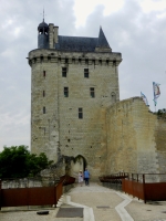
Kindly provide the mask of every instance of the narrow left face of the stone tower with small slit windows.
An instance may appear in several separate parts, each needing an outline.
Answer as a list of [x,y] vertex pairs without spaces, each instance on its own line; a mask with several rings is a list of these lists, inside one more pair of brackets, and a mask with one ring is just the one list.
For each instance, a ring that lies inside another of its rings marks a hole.
[[52,70],[56,72],[56,66],[44,62],[44,57],[33,61],[31,76],[31,151],[38,155],[45,152],[50,159],[56,161],[59,148],[58,76]]

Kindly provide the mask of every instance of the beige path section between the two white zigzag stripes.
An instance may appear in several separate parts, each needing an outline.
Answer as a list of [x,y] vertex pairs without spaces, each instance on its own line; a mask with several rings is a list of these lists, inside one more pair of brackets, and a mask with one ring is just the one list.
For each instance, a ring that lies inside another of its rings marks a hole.
[[[95,221],[122,220],[120,214],[121,212],[118,209],[116,210],[116,207],[120,206],[124,199],[114,190],[98,186],[97,183],[91,183],[90,186],[84,187],[77,186],[73,188],[69,194],[71,196],[72,202],[92,208]],[[128,213],[125,211],[123,217],[125,214]],[[127,221],[132,221],[129,220],[129,214],[127,218]]]

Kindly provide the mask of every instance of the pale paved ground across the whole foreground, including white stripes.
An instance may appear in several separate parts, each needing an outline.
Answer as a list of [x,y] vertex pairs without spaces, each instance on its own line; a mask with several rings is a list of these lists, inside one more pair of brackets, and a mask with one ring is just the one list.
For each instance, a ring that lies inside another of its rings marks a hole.
[[166,221],[166,201],[145,204],[97,183],[75,185],[64,194],[61,207],[82,207],[84,218],[56,218],[59,208],[52,208],[44,217],[38,215],[37,211],[4,212],[2,209],[0,221]]

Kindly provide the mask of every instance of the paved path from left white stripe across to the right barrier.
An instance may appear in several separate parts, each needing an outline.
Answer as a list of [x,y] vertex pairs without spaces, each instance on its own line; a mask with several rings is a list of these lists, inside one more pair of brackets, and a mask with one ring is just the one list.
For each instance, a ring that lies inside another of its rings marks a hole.
[[147,202],[90,183],[71,189],[71,201],[93,209],[95,221],[166,221],[166,201]]

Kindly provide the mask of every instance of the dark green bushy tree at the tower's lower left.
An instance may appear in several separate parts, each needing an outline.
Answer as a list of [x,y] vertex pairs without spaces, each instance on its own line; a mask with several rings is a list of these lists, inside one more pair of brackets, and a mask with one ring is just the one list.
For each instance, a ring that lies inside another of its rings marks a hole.
[[27,146],[4,147],[0,152],[0,178],[33,177],[52,162],[44,152],[30,154]]

